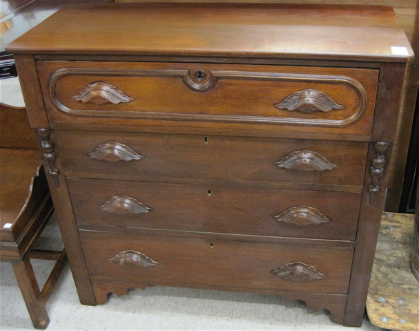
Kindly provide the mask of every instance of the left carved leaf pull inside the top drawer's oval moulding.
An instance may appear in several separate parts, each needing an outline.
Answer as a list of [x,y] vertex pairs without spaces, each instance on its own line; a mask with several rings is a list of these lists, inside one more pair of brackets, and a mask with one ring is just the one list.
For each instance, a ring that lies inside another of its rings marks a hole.
[[119,104],[119,102],[130,102],[134,100],[116,86],[102,81],[87,84],[84,86],[83,90],[81,90],[78,95],[73,96],[72,99],[84,103],[91,102],[92,104],[97,105],[108,103]]

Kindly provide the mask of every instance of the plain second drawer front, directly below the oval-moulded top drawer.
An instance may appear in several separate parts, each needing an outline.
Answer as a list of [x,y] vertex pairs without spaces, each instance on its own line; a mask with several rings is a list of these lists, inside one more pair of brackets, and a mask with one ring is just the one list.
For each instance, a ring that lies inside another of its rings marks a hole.
[[[58,130],[66,171],[362,187],[367,143]],[[332,187],[331,189],[337,189]]]

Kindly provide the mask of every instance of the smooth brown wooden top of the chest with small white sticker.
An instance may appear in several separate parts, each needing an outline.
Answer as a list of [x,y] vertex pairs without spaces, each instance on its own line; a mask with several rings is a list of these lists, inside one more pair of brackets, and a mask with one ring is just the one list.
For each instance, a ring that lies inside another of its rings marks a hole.
[[382,62],[413,57],[391,8],[227,3],[64,8],[8,51]]

